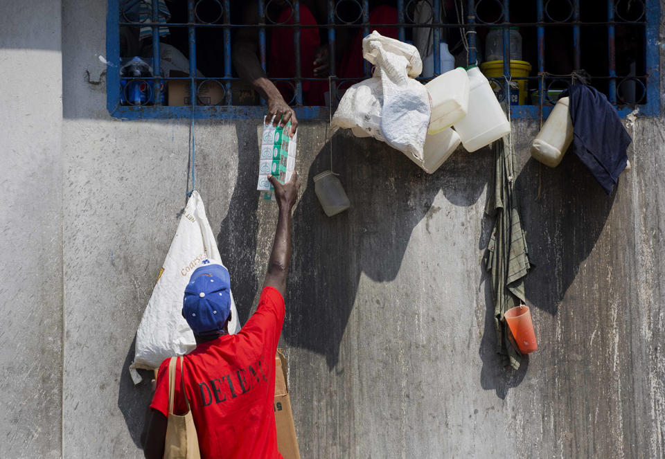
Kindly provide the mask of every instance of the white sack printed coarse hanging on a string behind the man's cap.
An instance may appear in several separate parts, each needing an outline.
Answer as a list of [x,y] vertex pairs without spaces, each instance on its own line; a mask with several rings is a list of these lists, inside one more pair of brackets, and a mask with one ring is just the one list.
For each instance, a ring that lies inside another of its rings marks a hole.
[[[159,368],[164,359],[186,354],[196,347],[194,334],[181,314],[182,300],[191,274],[206,259],[222,262],[203,200],[194,191],[180,217],[175,237],[136,332],[136,355],[130,366],[134,384],[141,382],[136,368]],[[237,333],[238,330],[240,323],[231,293],[229,333]]]

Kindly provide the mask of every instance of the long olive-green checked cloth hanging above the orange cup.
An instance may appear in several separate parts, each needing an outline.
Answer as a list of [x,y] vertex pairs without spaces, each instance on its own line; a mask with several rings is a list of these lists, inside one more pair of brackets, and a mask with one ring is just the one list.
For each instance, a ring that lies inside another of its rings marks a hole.
[[495,215],[492,237],[485,253],[486,269],[492,279],[494,321],[497,330],[497,352],[504,366],[520,368],[522,354],[504,321],[511,307],[526,302],[524,278],[531,267],[526,249],[526,237],[520,221],[517,195],[513,189],[515,172],[508,136],[495,142],[495,196],[488,200],[486,213]]

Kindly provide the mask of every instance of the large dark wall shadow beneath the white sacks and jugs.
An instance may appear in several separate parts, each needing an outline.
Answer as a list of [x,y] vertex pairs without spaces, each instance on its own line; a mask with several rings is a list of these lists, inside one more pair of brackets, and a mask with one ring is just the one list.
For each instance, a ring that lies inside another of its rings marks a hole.
[[[414,227],[440,190],[470,206],[481,195],[482,174],[462,172],[455,160],[429,175],[403,154],[369,138],[332,138],[333,170],[340,173],[351,208],[327,217],[314,193],[314,177],[330,168],[330,144],[312,162],[294,214],[290,310],[283,336],[290,345],[326,356],[328,368],[355,303],[361,273],[374,282],[394,280]],[[475,172],[475,171],[474,171]]]

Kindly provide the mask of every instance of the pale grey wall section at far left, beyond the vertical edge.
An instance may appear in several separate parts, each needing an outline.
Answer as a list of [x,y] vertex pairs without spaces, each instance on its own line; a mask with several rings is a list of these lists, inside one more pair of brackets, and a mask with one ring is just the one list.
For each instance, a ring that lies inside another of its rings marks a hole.
[[1,458],[59,458],[60,1],[0,1]]

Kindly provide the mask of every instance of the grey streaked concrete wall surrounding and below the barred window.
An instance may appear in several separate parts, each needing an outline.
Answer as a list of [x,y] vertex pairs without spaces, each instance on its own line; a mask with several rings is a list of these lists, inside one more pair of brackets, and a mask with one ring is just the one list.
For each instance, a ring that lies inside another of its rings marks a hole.
[[[45,70],[62,81],[62,120],[49,118],[55,91],[41,93],[43,108],[11,96],[0,105],[13,155],[0,160],[11,198],[0,292],[12,307],[0,332],[11,350],[2,457],[141,457],[150,388],[134,387],[127,366],[185,204],[189,123],[109,118],[97,57],[105,14],[103,1],[62,2],[62,80],[59,63]],[[12,46],[0,62],[33,55],[26,73],[44,71],[45,48]],[[517,372],[495,357],[481,264],[492,152],[459,150],[430,176],[375,141],[337,134],[352,208],[329,219],[311,179],[329,165],[326,127],[302,123],[282,345],[303,458],[665,456],[665,122],[629,126],[633,168],[611,197],[573,155],[553,170],[530,159],[537,123],[513,127],[540,345]],[[195,129],[197,189],[244,322],[276,217],[254,190],[258,123]],[[53,285],[28,280],[45,274]]]

